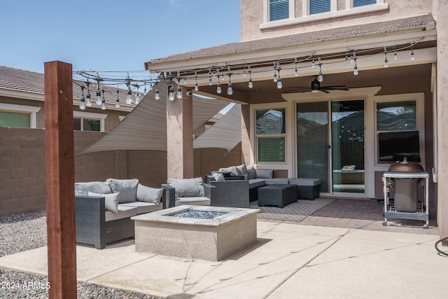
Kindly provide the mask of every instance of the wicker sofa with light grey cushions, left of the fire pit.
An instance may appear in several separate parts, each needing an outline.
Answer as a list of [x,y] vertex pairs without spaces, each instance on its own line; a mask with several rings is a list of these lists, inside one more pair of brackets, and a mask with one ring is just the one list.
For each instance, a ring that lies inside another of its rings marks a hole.
[[132,216],[162,209],[162,188],[138,179],[75,183],[76,242],[104,249],[106,244],[134,237]]

